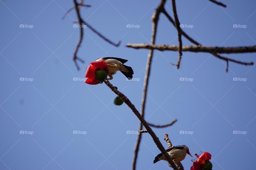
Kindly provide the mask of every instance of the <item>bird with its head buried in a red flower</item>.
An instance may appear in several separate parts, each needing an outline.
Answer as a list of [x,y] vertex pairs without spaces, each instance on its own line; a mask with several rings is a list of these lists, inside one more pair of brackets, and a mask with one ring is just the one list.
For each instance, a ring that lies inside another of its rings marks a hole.
[[107,63],[108,69],[109,69],[109,79],[112,80],[115,73],[117,71],[121,71],[127,77],[127,79],[132,79],[133,78],[133,69],[129,66],[123,65],[126,63],[128,60],[122,59],[122,58],[116,58],[116,57],[102,57],[98,58],[96,61],[101,61],[104,60]]

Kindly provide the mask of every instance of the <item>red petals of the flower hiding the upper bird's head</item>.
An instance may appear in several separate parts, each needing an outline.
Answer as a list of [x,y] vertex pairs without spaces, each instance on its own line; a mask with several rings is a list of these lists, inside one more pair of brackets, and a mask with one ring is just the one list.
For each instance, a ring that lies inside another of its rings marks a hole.
[[87,84],[92,84],[92,85],[96,85],[99,84],[100,82],[98,82],[95,78],[95,70],[97,69],[103,69],[105,70],[107,73],[109,73],[109,69],[107,68],[107,63],[104,60],[101,61],[93,61],[90,63],[90,65],[87,67],[87,70],[85,72],[85,77],[87,77],[87,79],[85,80],[85,83]]

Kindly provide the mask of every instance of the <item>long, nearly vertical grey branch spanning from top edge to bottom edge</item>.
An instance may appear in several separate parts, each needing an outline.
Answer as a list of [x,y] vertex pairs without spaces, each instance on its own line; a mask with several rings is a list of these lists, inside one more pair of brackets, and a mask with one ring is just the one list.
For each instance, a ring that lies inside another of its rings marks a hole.
[[[157,23],[159,19],[159,15],[163,9],[163,6],[165,5],[166,0],[161,0],[158,7],[155,9],[155,12],[152,15],[151,21],[152,21],[152,33],[151,33],[151,40],[150,44],[155,44],[155,36],[157,32]],[[147,96],[147,87],[149,82],[149,74],[150,74],[150,66],[152,62],[153,57],[153,49],[149,50],[148,56],[147,56],[147,65],[146,65],[146,72],[144,77],[144,84],[143,84],[143,94],[141,99],[141,116],[144,118],[144,112],[145,112],[145,105],[146,105],[146,96]],[[142,122],[139,123],[139,131],[142,130]],[[142,134],[138,134],[137,141],[134,146],[134,155],[133,155],[133,162],[132,162],[132,170],[136,169],[136,163],[138,158],[138,152],[139,152],[139,145],[141,142]]]

